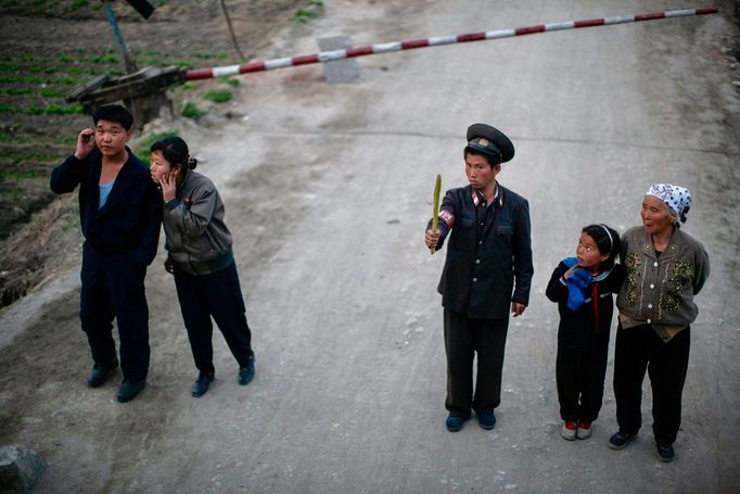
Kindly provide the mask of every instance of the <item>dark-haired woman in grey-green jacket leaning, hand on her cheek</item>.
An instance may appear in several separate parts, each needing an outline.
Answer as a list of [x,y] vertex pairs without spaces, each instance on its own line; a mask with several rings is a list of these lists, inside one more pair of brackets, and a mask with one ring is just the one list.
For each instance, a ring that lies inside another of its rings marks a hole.
[[152,144],[152,180],[162,188],[165,269],[175,275],[177,297],[200,371],[191,394],[202,396],[214,380],[213,316],[239,363],[239,383],[254,377],[252,333],[231,251],[231,232],[224,223],[224,202],[214,183],[192,172],[197,164],[188,144],[168,137]]

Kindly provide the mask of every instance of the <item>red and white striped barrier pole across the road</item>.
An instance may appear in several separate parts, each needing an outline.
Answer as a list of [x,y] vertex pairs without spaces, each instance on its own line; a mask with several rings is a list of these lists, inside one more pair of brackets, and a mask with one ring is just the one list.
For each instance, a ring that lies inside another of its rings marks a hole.
[[309,55],[286,56],[266,61],[254,61],[242,65],[227,65],[222,67],[196,68],[186,71],[188,80],[209,79],[213,77],[248,74],[251,72],[271,71],[273,68],[293,67],[311,63],[326,63],[335,60],[353,59],[356,56],[377,55],[393,51],[411,50],[414,48],[438,47],[470,41],[485,41],[487,39],[510,38],[512,36],[534,35],[552,30],[577,29],[579,27],[609,26],[612,24],[637,23],[641,21],[656,21],[660,18],[686,17],[689,15],[716,14],[716,8],[672,10],[651,14],[618,15],[614,17],[590,18],[586,21],[571,21],[564,23],[539,24],[513,29],[488,30],[469,33],[465,35],[438,36],[434,38],[406,39],[404,41],[354,47],[346,50],[322,51]]

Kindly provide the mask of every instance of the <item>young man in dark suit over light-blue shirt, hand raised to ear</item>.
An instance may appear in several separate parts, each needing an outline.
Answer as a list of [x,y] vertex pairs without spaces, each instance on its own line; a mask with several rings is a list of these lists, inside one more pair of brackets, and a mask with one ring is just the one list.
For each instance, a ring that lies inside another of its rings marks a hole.
[[51,174],[51,190],[79,186],[82,289],[79,316],[94,365],[88,384],[102,385],[118,366],[112,329],[116,319],[124,381],[116,398],[133,400],[146,383],[149,307],[146,266],[156,254],[162,223],[160,194],[146,166],[126,143],[131,114],[117,104],[92,114],[94,128],[77,137],[75,153]]

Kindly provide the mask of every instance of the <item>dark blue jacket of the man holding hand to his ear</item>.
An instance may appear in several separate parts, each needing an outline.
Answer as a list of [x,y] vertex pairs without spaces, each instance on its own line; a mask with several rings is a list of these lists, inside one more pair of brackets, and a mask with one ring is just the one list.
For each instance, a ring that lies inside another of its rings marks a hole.
[[151,264],[162,224],[162,194],[149,168],[129,150],[105,204],[98,210],[102,155],[94,149],[84,160],[71,155],[51,173],[51,190],[73,192],[79,185],[79,219],[86,243],[100,255],[124,255]]

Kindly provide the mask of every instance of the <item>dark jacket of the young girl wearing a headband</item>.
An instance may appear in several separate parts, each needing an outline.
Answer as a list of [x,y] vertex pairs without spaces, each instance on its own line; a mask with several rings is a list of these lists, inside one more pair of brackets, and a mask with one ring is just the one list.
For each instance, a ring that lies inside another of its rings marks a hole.
[[[567,269],[567,265],[561,262],[552,271],[550,282],[545,291],[548,299],[558,303],[558,312],[560,313],[558,345],[583,352],[591,350],[605,352],[609,346],[609,333],[614,313],[612,293],[616,293],[622,286],[624,268],[617,264],[613,268],[592,277],[585,290],[586,300],[584,304],[575,311],[571,311],[566,306],[567,284],[563,275]],[[598,296],[596,302],[594,301],[594,287],[596,287]]]

